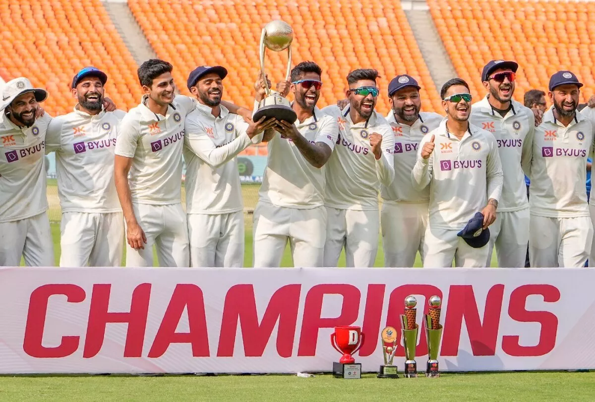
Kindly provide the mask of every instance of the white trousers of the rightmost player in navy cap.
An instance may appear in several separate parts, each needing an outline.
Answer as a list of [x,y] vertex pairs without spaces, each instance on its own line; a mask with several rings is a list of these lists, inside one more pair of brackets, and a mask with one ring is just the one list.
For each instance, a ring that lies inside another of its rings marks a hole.
[[588,216],[531,215],[529,261],[532,268],[584,267],[592,242],[593,224]]

